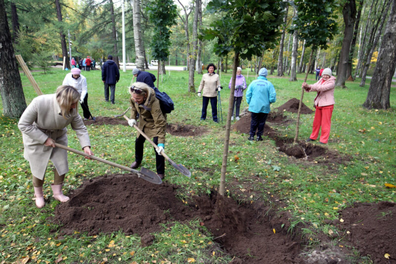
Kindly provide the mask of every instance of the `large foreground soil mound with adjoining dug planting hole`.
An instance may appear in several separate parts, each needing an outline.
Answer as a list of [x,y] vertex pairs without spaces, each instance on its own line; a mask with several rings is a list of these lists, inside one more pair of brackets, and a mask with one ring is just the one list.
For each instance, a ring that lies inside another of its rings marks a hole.
[[[61,224],[64,234],[76,230],[94,235],[120,229],[126,234],[137,233],[146,246],[153,240],[149,234],[162,229],[159,223],[199,217],[201,225],[218,237],[215,241],[237,257],[235,261],[303,263],[301,241],[281,232],[282,219],[270,221],[266,210],[255,209],[254,203],[238,206],[214,193],[193,197],[185,205],[175,197],[177,188],[167,183],[154,185],[134,174],[104,175],[84,181],[69,193],[70,200],[56,207],[53,221]],[[278,228],[275,234],[273,228]]]

